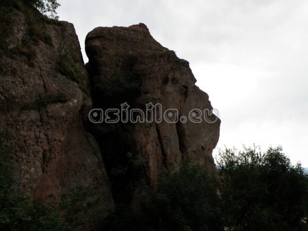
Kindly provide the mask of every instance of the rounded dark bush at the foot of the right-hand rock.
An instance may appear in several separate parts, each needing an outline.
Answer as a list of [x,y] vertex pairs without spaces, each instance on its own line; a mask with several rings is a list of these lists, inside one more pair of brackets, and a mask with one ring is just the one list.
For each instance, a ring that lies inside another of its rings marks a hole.
[[145,210],[152,230],[223,230],[218,194],[205,168],[184,159],[179,168],[161,172],[146,194]]

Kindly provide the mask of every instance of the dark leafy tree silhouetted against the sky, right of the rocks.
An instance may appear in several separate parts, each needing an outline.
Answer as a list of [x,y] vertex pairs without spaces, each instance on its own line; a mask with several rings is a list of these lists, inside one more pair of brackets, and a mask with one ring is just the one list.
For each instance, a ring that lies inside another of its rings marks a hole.
[[227,230],[308,230],[308,176],[282,147],[219,151],[217,187]]

